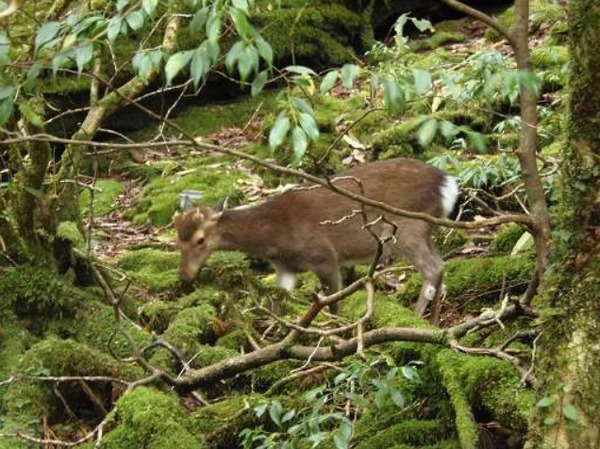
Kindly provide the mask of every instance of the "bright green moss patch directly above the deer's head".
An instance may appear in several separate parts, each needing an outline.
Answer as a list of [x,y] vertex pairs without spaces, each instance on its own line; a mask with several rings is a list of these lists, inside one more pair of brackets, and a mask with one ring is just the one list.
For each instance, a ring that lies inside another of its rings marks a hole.
[[232,194],[232,199],[236,200],[234,189],[240,179],[245,179],[245,175],[230,165],[204,167],[196,162],[196,165],[182,170],[180,174],[151,180],[137,203],[136,213],[147,213],[154,225],[166,226],[171,223],[179,207],[179,193],[182,190],[202,191],[205,204],[214,204]]

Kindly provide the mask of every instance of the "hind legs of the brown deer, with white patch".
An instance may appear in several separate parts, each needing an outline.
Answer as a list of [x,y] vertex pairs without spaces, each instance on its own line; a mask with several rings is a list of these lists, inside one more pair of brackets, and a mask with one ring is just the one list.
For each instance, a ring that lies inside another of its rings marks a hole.
[[[400,235],[398,250],[410,264],[421,273],[423,285],[414,309],[423,316],[429,303],[432,304],[431,322],[436,323],[439,318],[439,297],[441,294],[444,263],[433,243],[431,242],[431,228],[428,226],[411,229],[412,232]],[[417,231],[417,232],[415,232]]]

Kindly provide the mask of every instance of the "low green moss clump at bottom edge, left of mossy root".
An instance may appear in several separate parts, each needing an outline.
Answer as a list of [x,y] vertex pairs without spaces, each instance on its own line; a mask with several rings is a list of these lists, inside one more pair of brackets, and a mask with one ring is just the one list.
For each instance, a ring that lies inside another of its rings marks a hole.
[[[373,429],[369,429],[369,433]],[[404,422],[393,424],[385,429],[377,429],[373,432],[375,435],[368,438],[361,438],[360,432],[364,430],[357,426],[356,434],[358,444],[356,449],[370,449],[375,447],[392,448],[397,445],[406,444],[419,447],[435,444],[446,435],[444,426],[439,421],[421,421],[410,419]]]

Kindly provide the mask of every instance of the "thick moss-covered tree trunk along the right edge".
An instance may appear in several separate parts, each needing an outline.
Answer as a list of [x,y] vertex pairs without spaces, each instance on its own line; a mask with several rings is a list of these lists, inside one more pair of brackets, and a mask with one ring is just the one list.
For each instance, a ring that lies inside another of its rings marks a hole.
[[527,447],[600,447],[600,2],[571,0],[568,144]]

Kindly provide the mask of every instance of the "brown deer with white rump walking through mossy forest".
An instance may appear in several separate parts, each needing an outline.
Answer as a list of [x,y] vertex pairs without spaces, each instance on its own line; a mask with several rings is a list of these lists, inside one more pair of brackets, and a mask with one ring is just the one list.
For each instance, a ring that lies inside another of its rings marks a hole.
[[[337,187],[433,217],[447,217],[458,196],[454,178],[411,159],[363,164],[332,180]],[[294,288],[295,273],[312,271],[325,292],[333,293],[341,288],[341,265],[370,262],[377,252],[377,241],[365,229],[360,210],[357,201],[309,183],[256,206],[191,207],[174,218],[181,278],[192,281],[215,250],[239,250],[268,260],[278,284],[287,290]],[[415,311],[423,315],[439,295],[444,270],[431,241],[434,226],[370,206],[364,211],[367,222],[385,218],[371,226],[380,238],[395,231],[386,251],[404,256],[421,272],[423,286]]]

